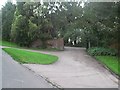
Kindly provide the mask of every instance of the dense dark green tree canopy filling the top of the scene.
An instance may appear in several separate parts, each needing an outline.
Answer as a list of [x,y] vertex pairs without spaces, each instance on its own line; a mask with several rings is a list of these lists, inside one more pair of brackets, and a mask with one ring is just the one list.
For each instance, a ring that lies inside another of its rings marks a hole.
[[3,39],[28,47],[37,39],[60,37],[65,45],[86,48],[117,42],[119,2],[81,3],[7,2],[2,8]]

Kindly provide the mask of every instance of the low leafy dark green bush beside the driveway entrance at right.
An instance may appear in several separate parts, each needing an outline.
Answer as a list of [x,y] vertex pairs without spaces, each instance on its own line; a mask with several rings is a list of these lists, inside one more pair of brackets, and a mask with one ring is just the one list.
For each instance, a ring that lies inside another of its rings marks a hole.
[[94,47],[94,48],[90,48],[88,49],[88,53],[90,55],[93,56],[116,56],[117,55],[117,51],[114,49],[110,49],[110,48],[103,48],[103,47]]

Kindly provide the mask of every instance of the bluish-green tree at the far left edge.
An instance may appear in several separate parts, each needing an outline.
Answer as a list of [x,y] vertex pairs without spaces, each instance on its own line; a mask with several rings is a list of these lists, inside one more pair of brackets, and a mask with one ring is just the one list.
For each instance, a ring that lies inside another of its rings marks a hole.
[[10,41],[11,25],[15,12],[15,5],[7,2],[2,8],[2,39]]

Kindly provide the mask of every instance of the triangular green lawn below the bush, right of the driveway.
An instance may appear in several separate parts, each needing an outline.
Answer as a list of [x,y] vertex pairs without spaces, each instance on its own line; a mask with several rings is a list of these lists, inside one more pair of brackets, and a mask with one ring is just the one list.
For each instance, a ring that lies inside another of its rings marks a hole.
[[[120,75],[120,62],[115,56],[95,56],[97,60],[105,64],[109,69],[111,69],[117,75]],[[119,65],[118,65],[119,64]]]

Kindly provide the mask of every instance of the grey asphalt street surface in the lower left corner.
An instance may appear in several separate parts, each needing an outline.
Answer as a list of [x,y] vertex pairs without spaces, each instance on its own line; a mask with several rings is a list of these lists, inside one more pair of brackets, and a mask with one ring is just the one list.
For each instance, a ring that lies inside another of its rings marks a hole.
[[4,51],[0,58],[2,58],[2,80],[0,80],[2,88],[53,88],[45,79],[14,61]]

